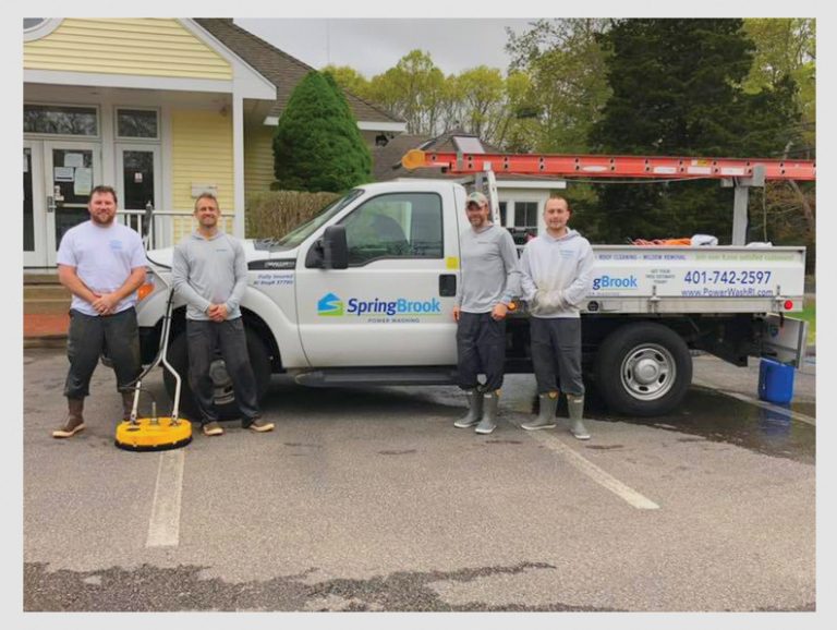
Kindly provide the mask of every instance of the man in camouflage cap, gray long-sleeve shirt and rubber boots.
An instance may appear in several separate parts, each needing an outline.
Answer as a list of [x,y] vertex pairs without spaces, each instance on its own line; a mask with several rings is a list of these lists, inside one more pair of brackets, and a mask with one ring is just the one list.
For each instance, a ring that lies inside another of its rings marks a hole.
[[[469,412],[453,426],[476,424],[476,433],[489,434],[496,427],[506,363],[506,314],[518,293],[518,253],[511,234],[489,221],[484,194],[471,193],[465,208],[471,227],[459,239],[462,288],[453,317],[459,386],[468,397]],[[485,374],[482,386],[481,373]]]

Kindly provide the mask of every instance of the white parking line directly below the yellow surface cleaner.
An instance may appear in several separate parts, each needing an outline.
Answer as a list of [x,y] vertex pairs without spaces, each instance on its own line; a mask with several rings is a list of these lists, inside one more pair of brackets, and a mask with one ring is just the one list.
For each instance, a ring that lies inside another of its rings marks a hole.
[[180,541],[180,497],[183,489],[184,461],[185,450],[182,448],[160,453],[146,547],[175,547]]

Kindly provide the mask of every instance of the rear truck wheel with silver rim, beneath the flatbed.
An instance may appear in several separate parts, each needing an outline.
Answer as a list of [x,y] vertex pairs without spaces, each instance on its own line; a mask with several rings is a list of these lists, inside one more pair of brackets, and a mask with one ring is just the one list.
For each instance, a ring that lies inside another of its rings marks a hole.
[[607,405],[627,415],[663,415],[692,383],[692,358],[680,336],[662,324],[623,326],[602,343],[596,384]]

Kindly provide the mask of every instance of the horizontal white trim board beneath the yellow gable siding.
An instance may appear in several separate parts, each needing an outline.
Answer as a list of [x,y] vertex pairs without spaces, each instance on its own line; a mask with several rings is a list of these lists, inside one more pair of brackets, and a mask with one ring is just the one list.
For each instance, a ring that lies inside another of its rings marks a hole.
[[92,87],[129,87],[131,89],[171,89],[177,92],[215,92],[225,94],[230,94],[233,90],[233,82],[230,80],[99,74],[59,70],[24,70],[23,82],[46,83],[50,85],[88,85]]

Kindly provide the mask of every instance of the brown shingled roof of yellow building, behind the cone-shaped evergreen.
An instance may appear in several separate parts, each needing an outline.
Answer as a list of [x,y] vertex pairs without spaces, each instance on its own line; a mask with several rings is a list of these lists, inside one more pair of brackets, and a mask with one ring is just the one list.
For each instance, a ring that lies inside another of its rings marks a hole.
[[[198,17],[195,22],[276,85],[276,104],[270,109],[269,116],[281,116],[293,88],[308,72],[315,70],[233,24],[232,19]],[[357,121],[404,122],[349,92],[343,90],[343,94]]]

